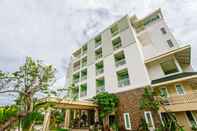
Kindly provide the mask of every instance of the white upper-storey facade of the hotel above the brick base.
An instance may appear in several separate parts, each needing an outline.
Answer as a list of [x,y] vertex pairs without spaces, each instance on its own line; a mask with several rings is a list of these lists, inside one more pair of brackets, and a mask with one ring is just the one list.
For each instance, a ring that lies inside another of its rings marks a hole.
[[[150,85],[151,80],[166,76],[160,63],[168,59],[175,61],[179,72],[192,70],[190,65],[181,65],[173,54],[146,63],[149,59],[180,48],[160,10],[141,20],[125,16],[95,38],[73,53],[68,68],[68,82],[79,86],[80,99],[92,98],[99,87],[116,93]],[[85,59],[87,61],[84,63],[87,64],[82,67]],[[85,94],[82,93],[84,90]]]

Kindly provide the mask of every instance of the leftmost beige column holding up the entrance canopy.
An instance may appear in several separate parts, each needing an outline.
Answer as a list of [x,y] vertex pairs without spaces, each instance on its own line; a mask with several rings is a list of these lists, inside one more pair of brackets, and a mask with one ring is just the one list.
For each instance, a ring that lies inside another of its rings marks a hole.
[[49,131],[50,117],[51,117],[51,108],[48,108],[44,115],[42,131]]

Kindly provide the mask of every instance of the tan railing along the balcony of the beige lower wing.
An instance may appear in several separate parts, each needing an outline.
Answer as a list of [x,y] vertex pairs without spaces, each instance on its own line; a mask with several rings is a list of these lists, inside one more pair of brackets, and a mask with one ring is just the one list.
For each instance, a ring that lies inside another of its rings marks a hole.
[[196,103],[197,102],[197,93],[189,93],[181,96],[172,96],[165,98],[166,102],[164,105],[175,105],[175,104],[184,104],[184,103]]

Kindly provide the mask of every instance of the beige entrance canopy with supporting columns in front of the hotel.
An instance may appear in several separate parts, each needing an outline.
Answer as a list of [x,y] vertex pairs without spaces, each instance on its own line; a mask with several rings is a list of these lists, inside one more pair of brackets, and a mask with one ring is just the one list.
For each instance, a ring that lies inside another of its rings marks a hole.
[[41,99],[37,103],[37,105],[41,105],[41,106],[48,105],[48,104],[50,104],[50,107],[46,106],[47,110],[45,112],[42,131],[49,130],[52,108],[66,109],[65,119],[64,119],[64,128],[70,127],[69,124],[70,124],[70,111],[71,110],[94,111],[94,122],[98,122],[98,109],[97,109],[98,106],[91,101],[74,101],[74,100],[64,100],[64,99],[54,98],[54,97],[47,97],[47,98]]

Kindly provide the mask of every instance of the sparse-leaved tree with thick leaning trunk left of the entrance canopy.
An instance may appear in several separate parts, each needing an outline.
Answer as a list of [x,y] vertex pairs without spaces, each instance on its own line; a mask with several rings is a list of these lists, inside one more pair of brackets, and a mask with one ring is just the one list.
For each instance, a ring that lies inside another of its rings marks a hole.
[[10,117],[0,126],[5,130],[19,118],[25,118],[33,112],[34,103],[38,99],[37,93],[49,93],[48,87],[55,82],[55,68],[27,57],[24,65],[16,72],[7,73],[0,71],[0,93],[17,94],[20,111],[16,116]]

